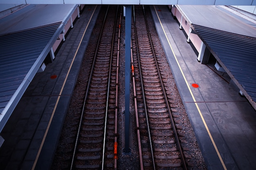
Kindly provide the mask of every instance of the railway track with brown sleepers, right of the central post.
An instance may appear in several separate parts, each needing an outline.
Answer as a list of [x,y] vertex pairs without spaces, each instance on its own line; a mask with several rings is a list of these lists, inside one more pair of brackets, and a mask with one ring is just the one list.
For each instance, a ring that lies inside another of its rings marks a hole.
[[174,119],[172,98],[166,94],[154,42],[150,37],[150,12],[134,6],[132,75],[137,115],[141,169],[183,169],[191,156],[184,154],[181,126]]

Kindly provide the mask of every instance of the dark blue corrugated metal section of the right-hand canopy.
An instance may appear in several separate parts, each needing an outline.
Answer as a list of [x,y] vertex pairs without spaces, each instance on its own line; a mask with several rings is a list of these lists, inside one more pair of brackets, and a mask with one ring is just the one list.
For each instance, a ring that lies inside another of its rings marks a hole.
[[256,38],[196,24],[192,25],[247,94],[256,102]]

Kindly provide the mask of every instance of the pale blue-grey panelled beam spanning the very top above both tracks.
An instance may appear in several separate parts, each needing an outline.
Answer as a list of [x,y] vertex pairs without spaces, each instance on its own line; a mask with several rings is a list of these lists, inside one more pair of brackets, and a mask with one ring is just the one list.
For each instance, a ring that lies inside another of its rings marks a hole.
[[256,5],[256,0],[1,0],[1,4]]

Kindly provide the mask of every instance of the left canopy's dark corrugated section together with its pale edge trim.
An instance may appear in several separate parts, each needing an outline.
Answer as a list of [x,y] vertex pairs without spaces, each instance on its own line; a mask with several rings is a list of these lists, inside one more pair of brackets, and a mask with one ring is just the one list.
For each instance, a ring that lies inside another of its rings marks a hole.
[[60,22],[0,35],[0,132],[78,7],[71,6]]

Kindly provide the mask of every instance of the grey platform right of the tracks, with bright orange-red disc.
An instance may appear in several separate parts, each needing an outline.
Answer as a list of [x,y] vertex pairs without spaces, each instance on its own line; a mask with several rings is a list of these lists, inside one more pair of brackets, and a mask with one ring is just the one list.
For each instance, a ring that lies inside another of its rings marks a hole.
[[151,6],[157,33],[209,170],[253,170],[256,112],[214,64],[197,60],[166,6]]

